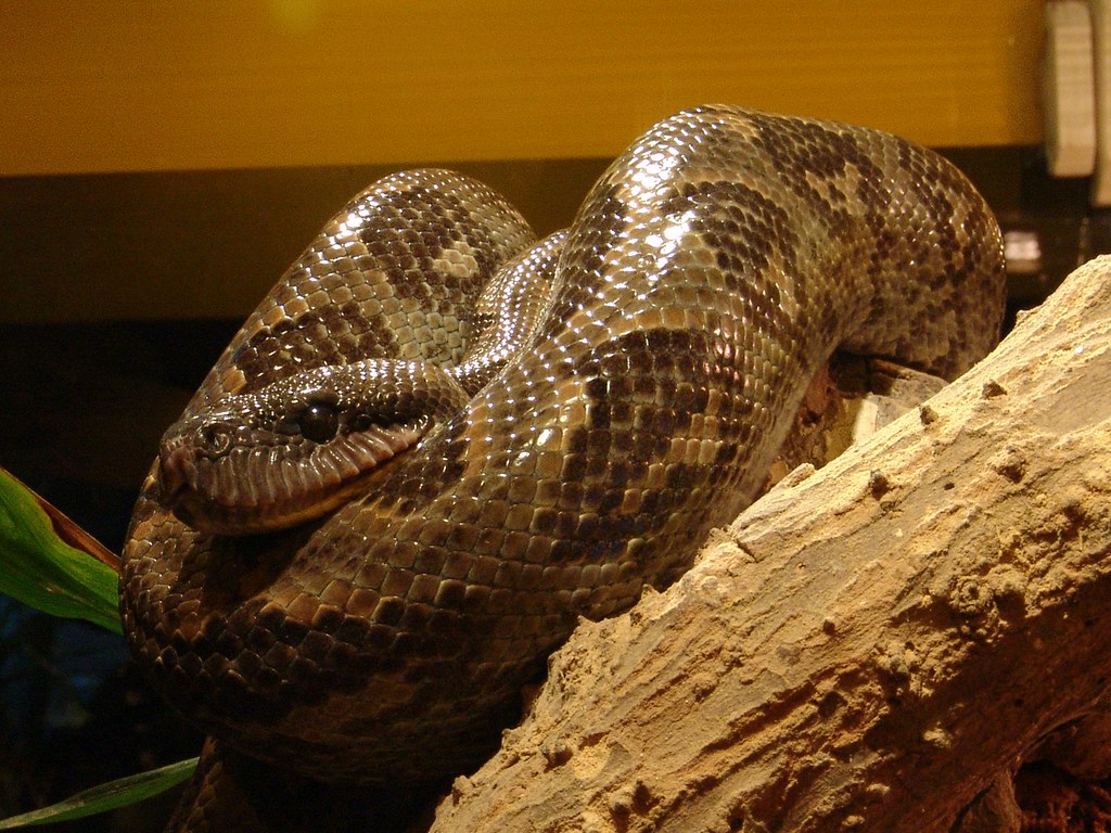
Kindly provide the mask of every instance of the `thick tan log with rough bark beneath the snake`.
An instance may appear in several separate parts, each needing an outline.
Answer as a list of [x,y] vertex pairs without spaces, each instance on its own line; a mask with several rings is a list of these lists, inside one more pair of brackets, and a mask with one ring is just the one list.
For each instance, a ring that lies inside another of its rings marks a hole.
[[1023,761],[1111,774],[1109,492],[1104,258],[583,622],[432,830],[1018,830]]

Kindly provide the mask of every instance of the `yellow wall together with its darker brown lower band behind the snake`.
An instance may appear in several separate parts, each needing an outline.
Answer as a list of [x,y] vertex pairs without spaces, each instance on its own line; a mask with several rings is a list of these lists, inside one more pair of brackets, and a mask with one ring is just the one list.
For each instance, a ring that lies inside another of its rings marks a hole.
[[0,0],[0,323],[242,317],[352,193],[418,163],[549,231],[699,102],[1033,143],[1041,9]]

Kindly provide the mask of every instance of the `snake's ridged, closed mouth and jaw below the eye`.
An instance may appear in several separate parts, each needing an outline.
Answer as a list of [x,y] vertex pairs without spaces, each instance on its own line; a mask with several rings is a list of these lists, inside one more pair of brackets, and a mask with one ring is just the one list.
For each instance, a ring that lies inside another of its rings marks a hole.
[[212,535],[250,535],[320,518],[367,488],[423,431],[372,426],[291,454],[280,445],[233,445],[211,453],[197,435],[163,440],[161,503],[183,523]]

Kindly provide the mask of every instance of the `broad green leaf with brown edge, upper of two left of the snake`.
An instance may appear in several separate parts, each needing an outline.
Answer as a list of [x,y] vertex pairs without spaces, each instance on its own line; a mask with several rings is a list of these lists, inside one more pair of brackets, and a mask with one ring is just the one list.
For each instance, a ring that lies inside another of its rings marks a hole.
[[0,593],[122,633],[118,576],[62,541],[33,492],[0,469]]

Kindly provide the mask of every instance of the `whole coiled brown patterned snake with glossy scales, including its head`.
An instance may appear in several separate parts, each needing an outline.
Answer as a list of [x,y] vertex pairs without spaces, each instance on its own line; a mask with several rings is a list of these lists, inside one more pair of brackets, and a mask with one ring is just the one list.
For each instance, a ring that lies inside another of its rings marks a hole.
[[834,350],[952,379],[1003,297],[983,198],[868,128],[685,110],[540,240],[469,177],[387,177],[167,431],[122,558],[132,652],[297,777],[469,772],[581,619],[753,500]]

